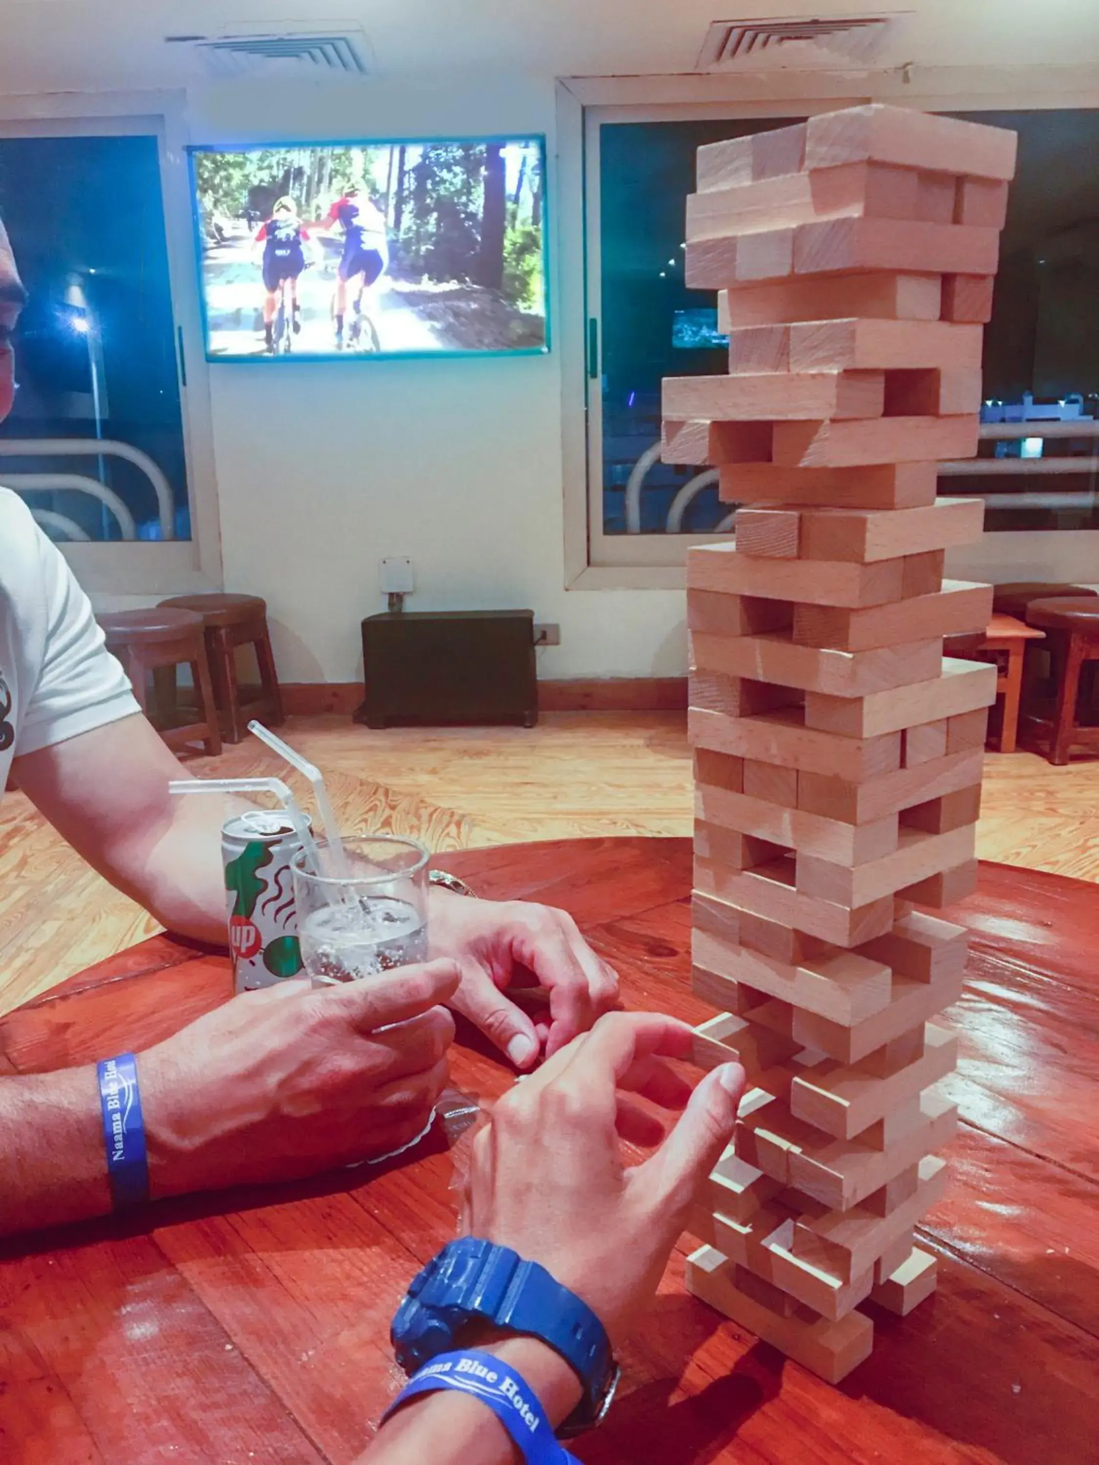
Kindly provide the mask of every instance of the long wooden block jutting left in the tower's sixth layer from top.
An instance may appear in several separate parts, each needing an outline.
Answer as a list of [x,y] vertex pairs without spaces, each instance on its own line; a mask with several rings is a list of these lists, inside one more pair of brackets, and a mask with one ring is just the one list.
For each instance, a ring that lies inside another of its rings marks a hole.
[[[872,321],[891,325],[891,321]],[[900,322],[906,325],[909,322]],[[944,331],[977,331],[979,325],[938,325]],[[753,331],[756,327],[752,328]],[[768,330],[768,327],[763,327]],[[800,327],[782,327],[800,330]],[[752,372],[725,377],[665,377],[664,412],[670,418],[709,418],[711,422],[813,420],[816,418],[879,418],[885,407],[885,374],[879,371]]]

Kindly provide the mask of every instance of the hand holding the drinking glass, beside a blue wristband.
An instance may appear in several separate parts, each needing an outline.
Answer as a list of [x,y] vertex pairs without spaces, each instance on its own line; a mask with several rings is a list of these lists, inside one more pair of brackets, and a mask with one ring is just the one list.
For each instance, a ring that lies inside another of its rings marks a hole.
[[453,961],[283,982],[141,1053],[152,1195],[293,1179],[415,1140],[447,1083],[440,1004],[457,982]]

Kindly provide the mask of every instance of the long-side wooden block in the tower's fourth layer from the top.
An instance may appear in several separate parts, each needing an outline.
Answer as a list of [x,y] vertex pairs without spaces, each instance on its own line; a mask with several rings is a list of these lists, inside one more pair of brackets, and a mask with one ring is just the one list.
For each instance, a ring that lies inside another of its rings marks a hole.
[[938,275],[796,278],[722,290],[718,296],[718,330],[727,334],[739,325],[826,321],[856,315],[887,321],[938,321],[941,311],[942,283]]

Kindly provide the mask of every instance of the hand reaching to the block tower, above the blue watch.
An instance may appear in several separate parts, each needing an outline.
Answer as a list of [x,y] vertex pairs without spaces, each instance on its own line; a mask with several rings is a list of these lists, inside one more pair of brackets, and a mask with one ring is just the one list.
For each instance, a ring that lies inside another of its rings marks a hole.
[[[649,1302],[703,1178],[728,1144],[744,1069],[722,1064],[690,1090],[659,1055],[687,1058],[690,1028],[611,1012],[492,1109],[476,1135],[463,1229],[539,1261],[621,1343]],[[626,1168],[620,1137],[662,1125],[629,1097],[686,1112],[659,1149]]]

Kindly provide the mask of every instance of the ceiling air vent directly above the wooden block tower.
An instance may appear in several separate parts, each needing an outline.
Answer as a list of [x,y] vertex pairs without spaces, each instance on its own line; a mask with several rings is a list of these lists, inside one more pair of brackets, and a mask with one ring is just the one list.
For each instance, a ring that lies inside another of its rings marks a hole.
[[697,70],[810,70],[878,63],[904,15],[714,21]]

